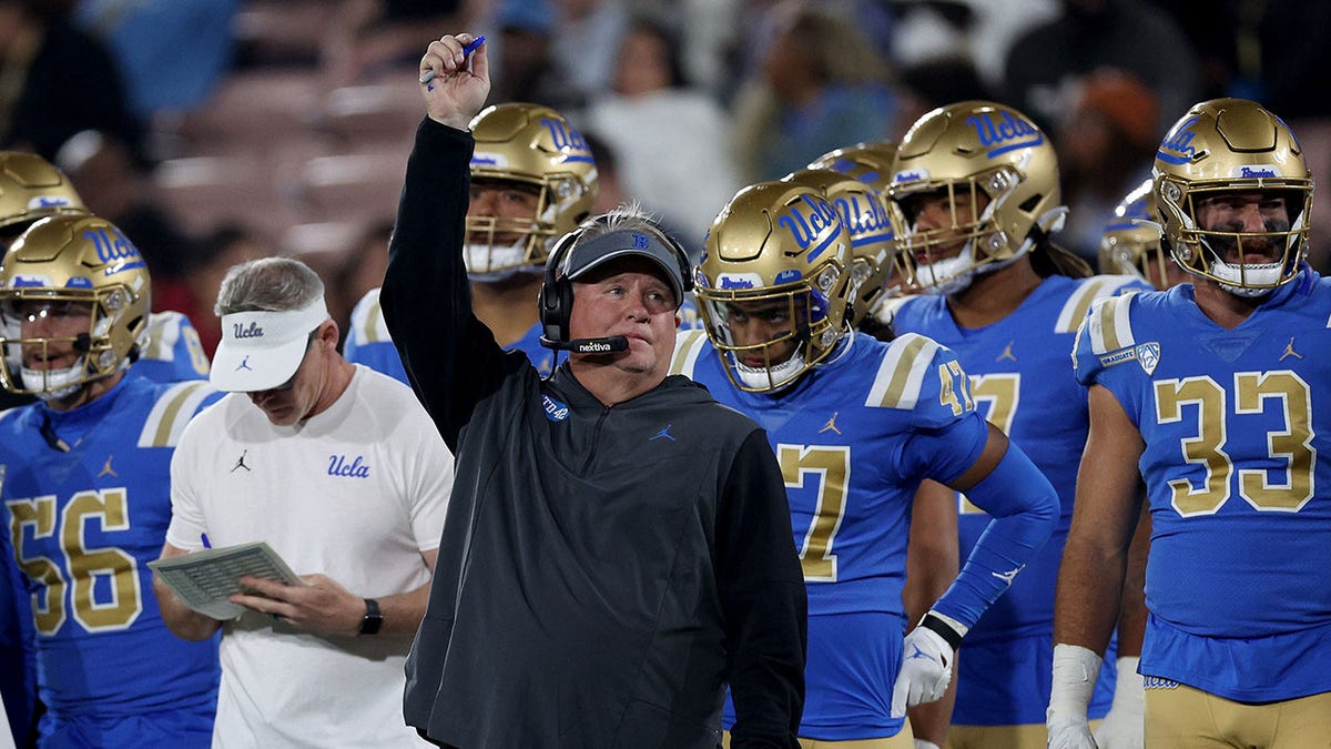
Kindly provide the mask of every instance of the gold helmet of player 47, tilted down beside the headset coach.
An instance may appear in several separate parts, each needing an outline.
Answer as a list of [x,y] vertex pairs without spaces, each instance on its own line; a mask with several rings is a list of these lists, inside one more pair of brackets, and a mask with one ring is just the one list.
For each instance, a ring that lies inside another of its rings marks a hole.
[[827,359],[847,331],[851,232],[817,188],[741,189],[712,223],[695,295],[735,386],[779,390]]

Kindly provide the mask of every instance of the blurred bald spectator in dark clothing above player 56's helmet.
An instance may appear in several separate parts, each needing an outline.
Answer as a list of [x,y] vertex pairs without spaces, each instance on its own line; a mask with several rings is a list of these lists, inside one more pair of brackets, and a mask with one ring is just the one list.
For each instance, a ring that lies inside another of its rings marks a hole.
[[153,275],[153,309],[186,309],[192,297],[185,271],[194,255],[194,239],[158,207],[152,180],[125,143],[100,131],[84,131],[60,147],[56,164],[79,188],[88,211],[133,237]]

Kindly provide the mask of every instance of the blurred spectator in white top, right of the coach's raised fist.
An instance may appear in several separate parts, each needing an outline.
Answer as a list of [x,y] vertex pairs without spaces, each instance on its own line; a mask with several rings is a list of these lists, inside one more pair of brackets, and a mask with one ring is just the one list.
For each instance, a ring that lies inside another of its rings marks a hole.
[[651,211],[668,208],[697,247],[741,185],[727,148],[725,112],[688,85],[679,51],[667,27],[635,20],[611,89],[592,101],[587,124],[615,149],[628,195]]

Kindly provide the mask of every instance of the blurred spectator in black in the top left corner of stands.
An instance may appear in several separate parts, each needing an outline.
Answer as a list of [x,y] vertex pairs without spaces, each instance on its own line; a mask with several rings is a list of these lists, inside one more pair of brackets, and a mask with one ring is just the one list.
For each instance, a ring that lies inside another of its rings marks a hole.
[[114,59],[69,24],[64,3],[0,0],[0,147],[55,160],[85,129],[113,133],[148,163]]

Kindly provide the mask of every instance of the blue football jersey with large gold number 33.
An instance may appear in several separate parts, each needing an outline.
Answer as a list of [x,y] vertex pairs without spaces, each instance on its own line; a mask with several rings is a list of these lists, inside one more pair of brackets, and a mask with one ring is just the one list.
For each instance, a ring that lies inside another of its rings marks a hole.
[[1141,670],[1230,700],[1331,690],[1331,281],[1238,327],[1193,287],[1097,304],[1077,378],[1141,430],[1151,512]]

